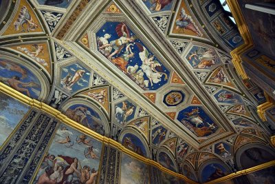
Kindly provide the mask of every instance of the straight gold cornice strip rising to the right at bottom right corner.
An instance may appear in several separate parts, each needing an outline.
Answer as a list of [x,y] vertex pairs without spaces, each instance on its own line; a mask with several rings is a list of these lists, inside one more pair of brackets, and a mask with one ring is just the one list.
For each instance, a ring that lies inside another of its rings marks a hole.
[[274,161],[270,161],[270,162],[267,162],[267,163],[263,163],[261,165],[256,165],[254,167],[251,167],[249,169],[246,169],[246,170],[241,170],[241,171],[238,171],[238,172],[234,172],[232,174],[229,174],[227,176],[224,176],[222,178],[218,178],[216,180],[213,180],[213,181],[210,181],[210,182],[207,182],[207,183],[204,183],[204,184],[214,184],[214,183],[221,183],[223,181],[228,181],[232,178],[236,178],[238,176],[242,176],[242,175],[245,175],[245,174],[250,174],[251,172],[255,172],[255,171],[259,171],[259,170],[263,170],[267,167],[272,167],[275,165],[275,160]]

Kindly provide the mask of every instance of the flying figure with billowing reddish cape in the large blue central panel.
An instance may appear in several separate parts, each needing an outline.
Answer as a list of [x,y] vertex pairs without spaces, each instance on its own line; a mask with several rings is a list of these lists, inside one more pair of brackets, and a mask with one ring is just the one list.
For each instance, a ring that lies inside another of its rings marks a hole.
[[118,37],[120,37],[120,38],[119,39],[115,39],[113,41],[110,41],[110,43],[103,44],[99,48],[99,49],[103,49],[103,48],[111,47],[112,50],[114,50],[108,56],[109,60],[111,60],[111,58],[115,54],[119,54],[120,51],[122,50],[122,48],[124,48],[125,45],[128,45],[129,43],[135,41],[135,37],[133,37],[133,36],[131,37],[131,34],[130,34],[128,28],[126,27],[125,23],[119,23],[116,26],[115,31],[117,32]]

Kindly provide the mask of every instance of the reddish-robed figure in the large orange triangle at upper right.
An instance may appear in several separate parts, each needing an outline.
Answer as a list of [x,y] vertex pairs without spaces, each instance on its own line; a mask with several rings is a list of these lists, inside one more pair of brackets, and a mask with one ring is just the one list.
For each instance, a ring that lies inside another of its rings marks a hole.
[[179,28],[182,28],[184,30],[191,30],[192,32],[195,32],[199,37],[202,37],[203,35],[197,25],[195,25],[192,17],[186,14],[184,8],[181,8],[180,18],[176,20],[176,30],[178,30]]

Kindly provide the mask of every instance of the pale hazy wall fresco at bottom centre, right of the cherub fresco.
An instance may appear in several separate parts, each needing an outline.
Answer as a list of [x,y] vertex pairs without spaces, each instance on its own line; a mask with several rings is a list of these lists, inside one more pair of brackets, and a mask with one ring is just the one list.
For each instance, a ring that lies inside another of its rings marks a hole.
[[148,166],[131,156],[122,154],[120,183],[124,184],[145,184],[149,183]]

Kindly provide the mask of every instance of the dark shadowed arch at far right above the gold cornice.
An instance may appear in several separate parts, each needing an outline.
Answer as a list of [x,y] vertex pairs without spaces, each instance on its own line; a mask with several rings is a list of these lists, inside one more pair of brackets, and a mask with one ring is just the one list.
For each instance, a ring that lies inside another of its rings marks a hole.
[[236,151],[236,165],[244,170],[275,159],[275,152],[261,143],[243,145]]

